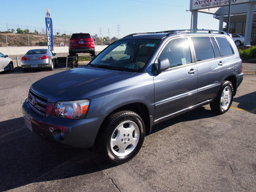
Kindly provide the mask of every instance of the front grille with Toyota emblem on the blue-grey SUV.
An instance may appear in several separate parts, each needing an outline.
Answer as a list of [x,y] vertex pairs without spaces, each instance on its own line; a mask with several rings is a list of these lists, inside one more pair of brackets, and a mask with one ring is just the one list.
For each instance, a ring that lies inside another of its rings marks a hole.
[[48,102],[47,99],[29,90],[28,101],[31,109],[33,109],[39,115],[45,116],[45,111]]

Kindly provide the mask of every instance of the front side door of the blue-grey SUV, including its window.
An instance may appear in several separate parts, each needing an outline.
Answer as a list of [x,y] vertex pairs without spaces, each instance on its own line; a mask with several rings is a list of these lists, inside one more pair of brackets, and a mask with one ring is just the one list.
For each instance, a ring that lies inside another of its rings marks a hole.
[[155,122],[193,106],[197,97],[197,68],[187,37],[170,40],[158,60],[168,58],[170,68],[154,76]]

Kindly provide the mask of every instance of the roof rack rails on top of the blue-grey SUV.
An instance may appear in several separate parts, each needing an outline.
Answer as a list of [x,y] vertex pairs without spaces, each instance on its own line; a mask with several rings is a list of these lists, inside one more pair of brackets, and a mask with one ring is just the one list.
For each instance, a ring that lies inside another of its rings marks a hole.
[[219,33],[227,34],[225,31],[211,30],[211,29],[180,29],[180,30],[169,30],[169,31],[158,31],[158,32],[145,32],[145,33],[132,33],[130,35],[124,36],[134,36],[134,35],[146,35],[146,34],[156,34],[156,33],[168,33],[166,36],[178,34],[178,33]]

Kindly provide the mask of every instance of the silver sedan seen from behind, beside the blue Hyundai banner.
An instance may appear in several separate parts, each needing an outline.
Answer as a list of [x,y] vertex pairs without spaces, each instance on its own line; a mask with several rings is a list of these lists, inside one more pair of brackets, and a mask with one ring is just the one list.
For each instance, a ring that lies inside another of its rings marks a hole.
[[29,68],[53,70],[54,66],[58,66],[58,58],[50,49],[31,49],[21,58],[21,67],[24,72]]

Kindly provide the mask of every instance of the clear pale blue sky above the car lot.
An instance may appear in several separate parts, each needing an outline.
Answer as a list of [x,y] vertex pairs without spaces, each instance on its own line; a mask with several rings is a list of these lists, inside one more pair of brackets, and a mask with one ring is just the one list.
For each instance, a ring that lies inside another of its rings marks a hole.
[[[0,31],[29,29],[42,33],[49,8],[54,35],[131,33],[190,29],[189,0],[0,0]],[[198,29],[218,29],[212,15],[198,13]]]

